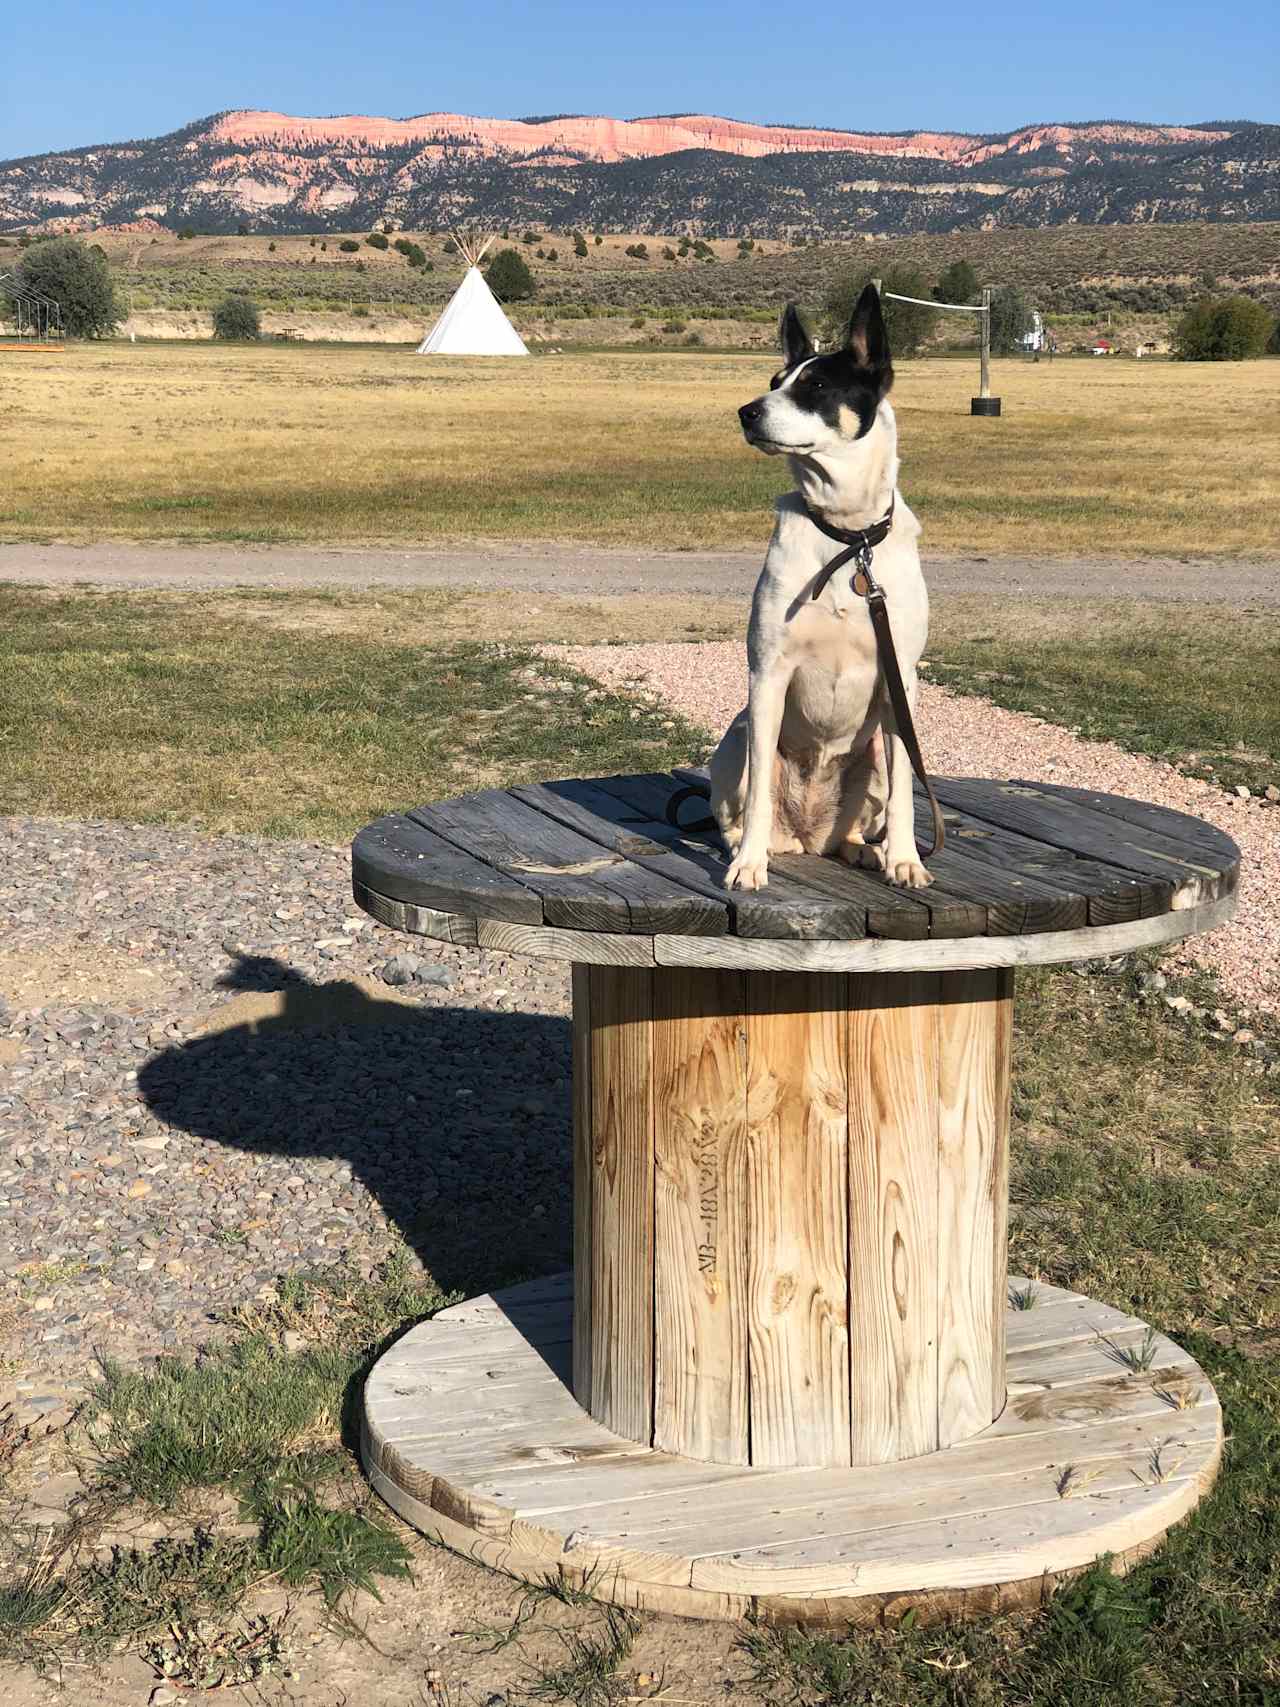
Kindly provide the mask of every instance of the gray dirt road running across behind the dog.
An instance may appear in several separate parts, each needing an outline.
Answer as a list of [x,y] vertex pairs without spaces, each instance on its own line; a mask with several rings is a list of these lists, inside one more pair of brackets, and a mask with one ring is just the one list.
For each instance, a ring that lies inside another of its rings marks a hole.
[[[759,553],[468,545],[423,551],[319,546],[0,545],[0,580],[96,587],[514,587],[551,594],[751,589]],[[934,592],[1157,599],[1280,608],[1280,562],[927,556]]]

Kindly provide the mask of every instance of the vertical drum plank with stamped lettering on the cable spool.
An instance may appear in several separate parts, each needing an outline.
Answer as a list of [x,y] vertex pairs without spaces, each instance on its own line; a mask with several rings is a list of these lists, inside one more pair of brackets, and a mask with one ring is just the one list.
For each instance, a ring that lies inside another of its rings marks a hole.
[[746,1465],[746,1028],[732,971],[654,980],[654,1444]]

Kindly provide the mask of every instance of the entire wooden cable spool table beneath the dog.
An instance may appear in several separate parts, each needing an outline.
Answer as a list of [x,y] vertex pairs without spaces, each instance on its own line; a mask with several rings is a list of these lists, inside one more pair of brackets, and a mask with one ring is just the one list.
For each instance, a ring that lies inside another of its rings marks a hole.
[[[691,1617],[1038,1599],[1212,1482],[1198,1366],[1005,1273],[1014,968],[1227,920],[1239,850],[1166,807],[940,778],[934,884],[809,855],[725,891],[695,773],[379,819],[386,925],[573,963],[573,1273],[454,1306],[365,1388],[410,1523]],[[916,802],[918,807],[923,802]]]

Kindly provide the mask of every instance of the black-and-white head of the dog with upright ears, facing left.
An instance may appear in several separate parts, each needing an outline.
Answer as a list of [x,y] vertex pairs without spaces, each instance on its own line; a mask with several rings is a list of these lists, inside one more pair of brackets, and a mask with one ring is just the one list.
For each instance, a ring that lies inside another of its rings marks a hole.
[[817,355],[794,302],[778,336],[783,365],[771,389],[737,411],[748,444],[766,456],[823,456],[869,434],[893,384],[876,285],[858,297],[843,343],[829,355]]

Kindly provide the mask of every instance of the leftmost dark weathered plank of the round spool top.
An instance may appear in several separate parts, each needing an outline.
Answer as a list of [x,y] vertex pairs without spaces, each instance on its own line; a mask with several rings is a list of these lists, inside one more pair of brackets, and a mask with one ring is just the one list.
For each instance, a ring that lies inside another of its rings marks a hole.
[[379,818],[357,835],[352,876],[377,894],[415,906],[526,925],[543,918],[543,903],[529,884],[473,859],[403,813]]

